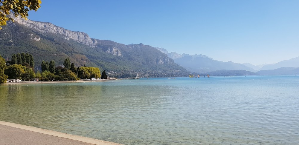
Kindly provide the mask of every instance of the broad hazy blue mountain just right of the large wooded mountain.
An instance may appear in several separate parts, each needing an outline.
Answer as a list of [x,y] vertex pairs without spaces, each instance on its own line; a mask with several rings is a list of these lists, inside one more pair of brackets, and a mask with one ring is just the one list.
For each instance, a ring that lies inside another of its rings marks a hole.
[[231,61],[216,61],[206,57],[194,58],[192,56],[184,56],[173,60],[190,72],[211,72],[215,70],[246,70],[254,72],[252,68],[243,64],[236,64]]

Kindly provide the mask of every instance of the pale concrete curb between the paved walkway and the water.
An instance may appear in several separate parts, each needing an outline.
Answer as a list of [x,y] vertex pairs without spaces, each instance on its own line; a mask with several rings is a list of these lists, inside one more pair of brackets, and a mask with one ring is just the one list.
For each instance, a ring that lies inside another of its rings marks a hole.
[[46,134],[46,135],[52,135],[52,136],[57,136],[57,137],[61,137],[61,138],[68,138],[68,139],[72,139],[72,140],[76,140],[76,141],[82,141],[82,142],[89,143],[89,144],[121,145],[121,144],[113,143],[113,142],[109,142],[109,141],[102,141],[102,140],[98,140],[98,139],[94,139],[94,138],[87,138],[87,137],[78,136],[78,135],[71,135],[71,134],[67,134],[67,133],[56,132],[56,131],[36,128],[36,127],[30,127],[30,126],[26,126],[26,125],[15,124],[15,123],[10,123],[10,122],[5,122],[5,121],[0,121],[0,124],[19,128],[19,129],[24,129],[24,130],[28,130],[28,131],[39,132],[39,133]]

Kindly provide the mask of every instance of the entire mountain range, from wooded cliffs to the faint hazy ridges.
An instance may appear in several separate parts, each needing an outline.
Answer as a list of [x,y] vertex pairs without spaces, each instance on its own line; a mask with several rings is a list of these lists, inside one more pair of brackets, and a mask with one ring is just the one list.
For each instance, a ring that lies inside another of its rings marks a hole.
[[[84,32],[66,30],[48,22],[25,21],[19,17],[14,19],[15,23],[8,22],[0,31],[0,54],[2,57],[10,58],[14,53],[31,53],[35,59],[36,69],[40,69],[42,60],[54,60],[58,66],[62,65],[66,57],[70,57],[77,67],[83,65],[99,67],[101,71],[106,70],[110,74],[117,74],[118,77],[133,76],[137,73],[146,75],[147,71],[155,77],[186,76],[189,74],[188,71],[213,75],[257,75],[249,72],[279,67],[299,67],[299,57],[276,64],[258,66],[249,63],[238,64],[232,61],[217,61],[202,54],[168,53],[166,49],[144,44],[125,45],[99,40],[90,38]],[[283,74],[285,73],[287,71]],[[267,74],[271,74],[271,71]]]

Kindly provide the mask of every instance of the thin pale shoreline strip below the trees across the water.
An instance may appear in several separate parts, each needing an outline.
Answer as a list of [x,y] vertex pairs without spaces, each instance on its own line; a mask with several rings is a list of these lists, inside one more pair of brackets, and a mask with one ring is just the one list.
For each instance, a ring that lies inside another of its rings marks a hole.
[[99,80],[77,80],[77,81],[21,81],[21,82],[7,82],[3,85],[9,84],[52,84],[52,83],[77,83],[77,82],[102,82],[102,81],[115,81],[121,80],[119,78],[112,79],[99,79]]

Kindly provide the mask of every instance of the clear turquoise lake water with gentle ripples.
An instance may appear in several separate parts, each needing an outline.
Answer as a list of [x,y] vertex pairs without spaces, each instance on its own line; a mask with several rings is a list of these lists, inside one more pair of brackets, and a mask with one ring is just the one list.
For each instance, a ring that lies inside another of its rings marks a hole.
[[1,121],[121,144],[299,141],[299,76],[11,84],[0,95]]

